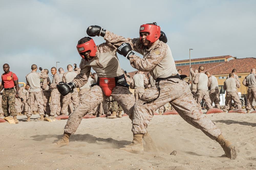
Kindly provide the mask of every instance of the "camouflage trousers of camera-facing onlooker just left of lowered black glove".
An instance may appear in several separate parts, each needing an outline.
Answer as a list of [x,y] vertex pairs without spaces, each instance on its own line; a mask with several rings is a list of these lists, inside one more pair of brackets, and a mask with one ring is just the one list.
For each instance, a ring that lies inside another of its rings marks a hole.
[[51,91],[51,116],[55,116],[55,114],[60,115],[60,93],[58,89],[52,89]]

